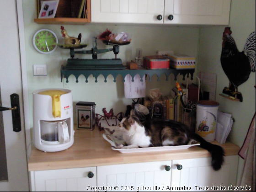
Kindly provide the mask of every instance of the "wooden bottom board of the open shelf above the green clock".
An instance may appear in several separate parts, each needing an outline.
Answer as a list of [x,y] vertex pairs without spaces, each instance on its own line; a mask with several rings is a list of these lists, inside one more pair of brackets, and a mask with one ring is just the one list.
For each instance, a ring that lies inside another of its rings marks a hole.
[[34,19],[37,24],[65,24],[65,25],[85,25],[91,22],[89,19],[79,18],[53,18],[53,19]]

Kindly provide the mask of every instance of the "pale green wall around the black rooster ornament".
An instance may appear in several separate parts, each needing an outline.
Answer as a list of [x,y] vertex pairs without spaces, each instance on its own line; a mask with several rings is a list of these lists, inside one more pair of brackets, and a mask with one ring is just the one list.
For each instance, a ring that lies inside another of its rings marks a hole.
[[[255,31],[255,0],[232,0],[229,27],[233,31],[232,37],[240,51],[245,46],[246,39]],[[229,85],[229,80],[224,74],[220,64],[222,50],[222,35],[224,27],[203,27],[200,29],[198,72],[200,70],[218,75],[217,101],[220,110],[233,114],[235,124],[229,135],[229,140],[242,146],[248,131],[251,119],[255,113],[255,88],[256,74],[251,73],[250,79],[239,86],[243,93],[244,102],[234,102],[219,96],[223,88]],[[243,160],[239,160],[239,174],[243,168]]]

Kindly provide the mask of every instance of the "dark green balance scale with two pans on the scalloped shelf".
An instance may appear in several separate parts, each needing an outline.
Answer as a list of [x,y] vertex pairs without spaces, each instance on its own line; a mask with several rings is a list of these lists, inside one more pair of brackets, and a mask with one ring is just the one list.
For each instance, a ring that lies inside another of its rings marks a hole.
[[[121,59],[117,59],[117,54],[120,52],[120,46],[128,45],[131,42],[120,42],[120,41],[102,41],[105,45],[113,46],[108,49],[97,48],[97,37],[93,37],[92,48],[88,51],[75,51],[75,49],[85,48],[87,45],[81,44],[76,47],[70,48],[59,45],[60,48],[70,49],[70,57],[68,64],[65,66],[66,70],[102,70],[102,69],[125,69]],[[113,51],[115,59],[98,59],[99,53],[107,53]],[[92,59],[75,59],[75,54],[92,54]]]

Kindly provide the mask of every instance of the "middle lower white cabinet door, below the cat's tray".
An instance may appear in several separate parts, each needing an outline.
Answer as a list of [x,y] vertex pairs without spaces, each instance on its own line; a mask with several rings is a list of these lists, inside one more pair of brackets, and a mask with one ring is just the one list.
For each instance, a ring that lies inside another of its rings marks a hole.
[[171,168],[171,161],[100,166],[97,167],[97,185],[113,187],[107,191],[166,191],[171,187],[171,170],[166,171],[166,166]]

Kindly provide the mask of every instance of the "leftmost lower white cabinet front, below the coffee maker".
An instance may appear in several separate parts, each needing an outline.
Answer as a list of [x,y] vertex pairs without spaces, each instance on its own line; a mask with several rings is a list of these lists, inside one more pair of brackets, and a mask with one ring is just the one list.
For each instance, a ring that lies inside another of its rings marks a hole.
[[35,171],[35,191],[86,192],[90,190],[90,188],[87,188],[88,186],[97,186],[96,178],[96,167]]

